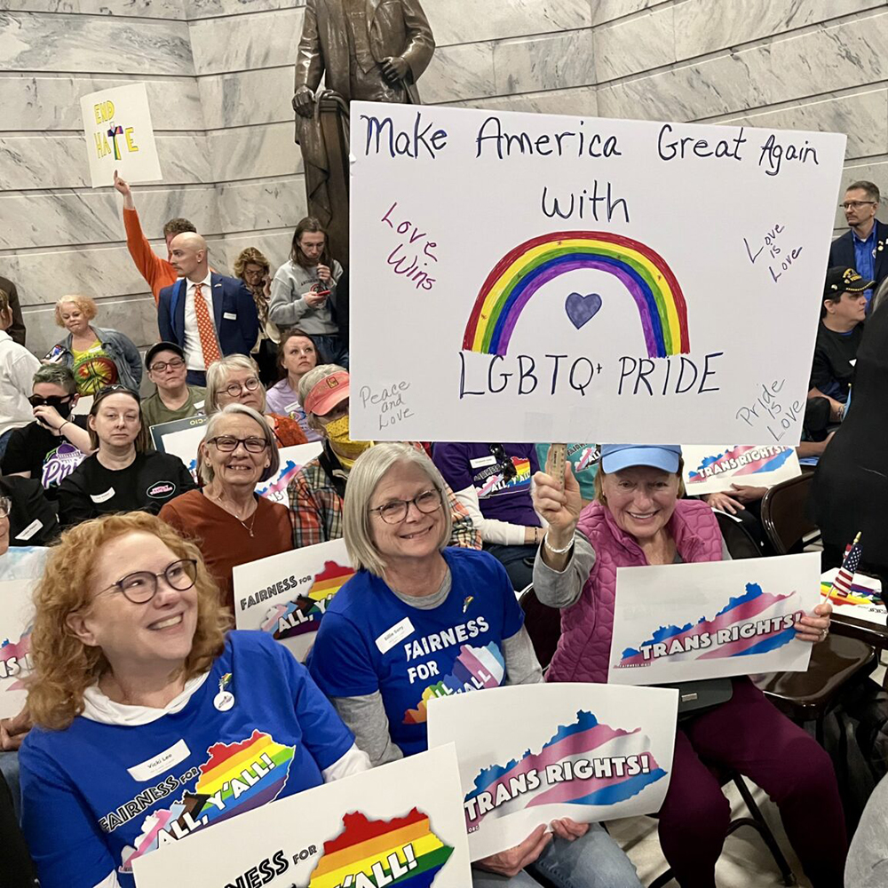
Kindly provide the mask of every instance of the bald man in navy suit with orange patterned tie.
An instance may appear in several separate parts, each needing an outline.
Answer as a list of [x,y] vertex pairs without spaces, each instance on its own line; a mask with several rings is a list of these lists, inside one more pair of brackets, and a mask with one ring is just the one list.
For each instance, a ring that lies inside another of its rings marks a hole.
[[200,234],[177,234],[170,265],[181,280],[164,287],[157,303],[163,342],[185,352],[188,385],[206,385],[207,367],[226,354],[250,354],[259,319],[250,290],[238,278],[210,273],[207,242]]

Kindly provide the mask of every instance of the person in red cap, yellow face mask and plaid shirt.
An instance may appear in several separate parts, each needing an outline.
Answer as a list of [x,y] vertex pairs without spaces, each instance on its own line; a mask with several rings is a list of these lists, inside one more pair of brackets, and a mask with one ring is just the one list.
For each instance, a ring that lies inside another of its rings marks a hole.
[[[307,423],[321,434],[321,456],[306,463],[287,488],[293,518],[293,544],[299,549],[342,538],[343,501],[348,473],[354,461],[373,446],[373,441],[355,441],[348,429],[348,371],[336,364],[321,364],[299,382],[299,400]],[[419,444],[414,447],[422,449]],[[453,491],[445,488],[453,533],[450,545],[480,549],[472,518]]]

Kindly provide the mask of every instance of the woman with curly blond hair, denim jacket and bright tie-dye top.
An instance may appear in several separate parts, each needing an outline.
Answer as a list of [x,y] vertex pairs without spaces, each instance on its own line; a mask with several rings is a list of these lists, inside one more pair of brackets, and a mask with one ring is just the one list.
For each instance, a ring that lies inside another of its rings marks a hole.
[[130,337],[114,329],[93,327],[97,307],[88,296],[63,296],[55,305],[55,320],[67,337],[53,346],[44,361],[65,364],[74,372],[77,391],[95,394],[106,385],[139,391],[142,359]]

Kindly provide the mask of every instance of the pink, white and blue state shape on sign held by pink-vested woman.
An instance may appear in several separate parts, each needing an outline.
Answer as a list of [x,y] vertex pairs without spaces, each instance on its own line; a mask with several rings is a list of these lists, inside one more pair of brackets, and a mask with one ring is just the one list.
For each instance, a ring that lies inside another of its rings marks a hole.
[[793,610],[797,591],[772,595],[758,583],[747,583],[739,598],[732,598],[711,620],[701,617],[684,626],[661,626],[638,648],[627,647],[614,669],[650,666],[669,658],[671,662],[717,660],[750,654],[766,654],[796,638]]

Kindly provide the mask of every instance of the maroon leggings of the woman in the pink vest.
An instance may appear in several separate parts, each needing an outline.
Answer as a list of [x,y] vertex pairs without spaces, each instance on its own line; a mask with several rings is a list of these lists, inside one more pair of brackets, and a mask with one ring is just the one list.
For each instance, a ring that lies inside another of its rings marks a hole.
[[814,888],[842,888],[848,840],[832,761],[748,678],[733,697],[678,725],[660,844],[682,888],[715,888],[715,868],[731,820],[710,769],[736,769],[773,798],[805,876]]

